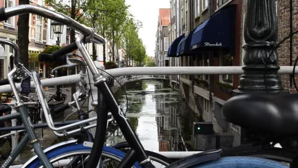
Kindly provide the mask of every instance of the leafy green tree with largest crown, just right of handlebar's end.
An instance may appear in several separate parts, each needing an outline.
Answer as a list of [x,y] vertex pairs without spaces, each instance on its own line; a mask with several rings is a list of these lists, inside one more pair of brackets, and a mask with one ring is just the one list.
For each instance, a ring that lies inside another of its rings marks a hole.
[[[121,45],[120,39],[124,33],[124,23],[129,15],[127,9],[128,6],[125,5],[124,0],[92,0],[89,9],[85,12],[84,23],[95,28],[95,32],[110,41],[114,56],[115,46],[118,49],[118,46]],[[94,57],[95,53],[95,44],[93,44]],[[113,60],[115,60],[114,57]],[[103,44],[103,62],[106,63],[105,44]]]

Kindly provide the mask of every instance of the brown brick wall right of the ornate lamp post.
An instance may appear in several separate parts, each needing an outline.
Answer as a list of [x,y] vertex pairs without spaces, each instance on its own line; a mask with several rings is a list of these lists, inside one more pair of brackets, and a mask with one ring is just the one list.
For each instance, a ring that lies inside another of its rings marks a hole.
[[[278,16],[278,41],[283,40],[290,34],[290,2],[289,0],[277,1],[277,16]],[[298,0],[293,0],[293,32],[298,30]],[[279,65],[290,65],[290,39],[282,43],[277,50],[279,56]],[[298,56],[298,34],[293,36],[293,65],[296,57]],[[282,84],[284,89],[295,93],[296,89],[290,86],[289,75],[282,75]],[[295,78],[298,83],[298,78]]]

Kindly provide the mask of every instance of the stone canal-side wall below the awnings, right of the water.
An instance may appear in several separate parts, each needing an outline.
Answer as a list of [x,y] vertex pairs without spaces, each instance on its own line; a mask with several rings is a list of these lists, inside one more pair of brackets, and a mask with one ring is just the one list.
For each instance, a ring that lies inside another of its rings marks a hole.
[[[208,87],[205,85],[196,84],[196,82],[182,77],[179,84],[172,81],[171,87],[181,93],[189,108],[197,116],[201,117],[204,122],[212,122],[215,134],[212,135],[213,138],[210,138],[209,141],[215,140],[218,142],[220,146],[217,146],[217,148],[225,148],[225,146],[231,145],[238,146],[241,144],[241,128],[225,121],[221,114],[223,104],[225,103],[224,100],[216,97],[214,93],[210,95]],[[214,138],[214,136],[217,138]],[[231,137],[233,137],[232,141]]]

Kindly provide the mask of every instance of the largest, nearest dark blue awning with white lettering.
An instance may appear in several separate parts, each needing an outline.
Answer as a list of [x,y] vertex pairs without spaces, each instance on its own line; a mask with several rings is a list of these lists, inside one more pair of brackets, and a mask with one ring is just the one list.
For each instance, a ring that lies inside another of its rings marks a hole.
[[229,5],[200,24],[192,34],[191,51],[232,48],[235,51],[235,5]]

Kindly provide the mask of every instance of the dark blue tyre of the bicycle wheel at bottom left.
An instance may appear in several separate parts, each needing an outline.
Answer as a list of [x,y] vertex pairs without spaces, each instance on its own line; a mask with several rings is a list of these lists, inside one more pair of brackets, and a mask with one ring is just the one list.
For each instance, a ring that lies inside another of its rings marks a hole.
[[[50,163],[57,163],[58,159],[63,159],[65,157],[74,157],[75,155],[85,154],[87,157],[91,153],[91,147],[84,146],[82,143],[80,144],[72,144],[59,147],[57,149],[51,150],[46,153]],[[125,153],[114,149],[111,147],[104,146],[102,151],[102,158],[105,159],[113,159],[117,162],[120,162],[125,156]],[[40,166],[39,159],[33,160],[31,163],[26,163],[26,168],[38,168]],[[59,165],[60,163],[58,163]],[[60,166],[60,165],[59,165]],[[137,163],[133,165],[134,168],[141,168]]]

